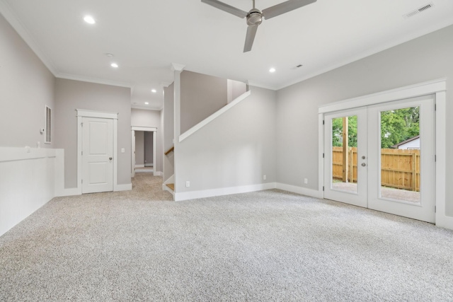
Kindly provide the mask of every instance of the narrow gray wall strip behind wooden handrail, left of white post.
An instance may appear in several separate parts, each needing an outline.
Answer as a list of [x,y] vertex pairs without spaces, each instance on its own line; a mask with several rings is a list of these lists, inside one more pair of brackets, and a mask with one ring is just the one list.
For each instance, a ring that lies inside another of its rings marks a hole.
[[[174,83],[164,88],[164,152],[173,146],[174,129],[174,114],[175,114],[175,95]],[[164,155],[164,181],[175,173],[174,152]]]

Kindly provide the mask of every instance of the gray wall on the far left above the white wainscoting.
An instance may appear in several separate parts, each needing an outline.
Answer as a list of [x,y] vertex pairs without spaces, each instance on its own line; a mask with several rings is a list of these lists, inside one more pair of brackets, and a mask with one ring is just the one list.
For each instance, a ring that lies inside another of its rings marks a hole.
[[[0,15],[0,146],[44,144],[45,105],[55,117],[55,77]],[[55,124],[54,127],[55,129]]]

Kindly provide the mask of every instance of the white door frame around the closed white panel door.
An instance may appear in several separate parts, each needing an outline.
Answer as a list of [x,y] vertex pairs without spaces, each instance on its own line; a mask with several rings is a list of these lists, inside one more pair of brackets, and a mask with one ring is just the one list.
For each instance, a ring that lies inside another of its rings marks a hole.
[[77,193],[82,194],[82,119],[98,117],[113,120],[113,191],[118,191],[117,185],[117,136],[118,114],[92,110],[76,109],[77,112]]

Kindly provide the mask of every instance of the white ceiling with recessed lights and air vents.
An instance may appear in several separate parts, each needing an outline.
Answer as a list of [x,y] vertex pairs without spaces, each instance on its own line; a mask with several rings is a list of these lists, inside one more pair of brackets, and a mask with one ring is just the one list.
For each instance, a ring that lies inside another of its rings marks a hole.
[[[403,17],[425,4],[434,6]],[[245,19],[200,0],[0,0],[0,12],[55,76],[131,87],[132,107],[156,110],[172,63],[277,90],[453,24],[452,0],[318,0],[264,20],[243,53]],[[85,23],[86,14],[96,24]]]

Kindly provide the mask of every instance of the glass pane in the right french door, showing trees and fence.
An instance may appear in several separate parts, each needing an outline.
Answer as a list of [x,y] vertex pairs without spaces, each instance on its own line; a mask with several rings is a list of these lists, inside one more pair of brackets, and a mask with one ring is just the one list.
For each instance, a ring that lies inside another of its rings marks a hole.
[[380,197],[420,203],[420,107],[382,111]]

